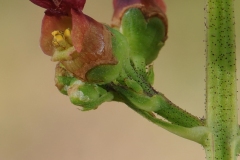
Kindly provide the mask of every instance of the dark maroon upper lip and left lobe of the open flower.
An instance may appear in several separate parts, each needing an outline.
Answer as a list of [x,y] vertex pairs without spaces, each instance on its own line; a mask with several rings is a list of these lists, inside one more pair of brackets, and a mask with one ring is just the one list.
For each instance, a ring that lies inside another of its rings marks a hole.
[[[86,0],[30,0],[34,4],[47,9],[42,20],[40,46],[43,52],[52,56],[52,32],[72,28],[71,10],[81,13]],[[81,43],[81,42],[79,42]]]

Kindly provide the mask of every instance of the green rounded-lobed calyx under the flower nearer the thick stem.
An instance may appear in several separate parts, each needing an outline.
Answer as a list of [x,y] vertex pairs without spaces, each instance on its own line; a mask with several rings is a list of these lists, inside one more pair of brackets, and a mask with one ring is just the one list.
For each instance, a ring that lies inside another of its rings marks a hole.
[[143,57],[146,65],[158,56],[164,45],[165,27],[158,17],[146,19],[140,9],[131,8],[122,18],[121,31],[130,46],[130,57]]

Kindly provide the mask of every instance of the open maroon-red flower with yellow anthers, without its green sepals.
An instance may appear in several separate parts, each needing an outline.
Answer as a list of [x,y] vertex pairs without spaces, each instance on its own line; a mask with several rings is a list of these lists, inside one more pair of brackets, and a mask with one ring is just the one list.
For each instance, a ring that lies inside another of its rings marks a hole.
[[46,9],[42,20],[41,49],[84,81],[90,69],[117,64],[112,53],[111,32],[82,13],[85,1],[31,0]]

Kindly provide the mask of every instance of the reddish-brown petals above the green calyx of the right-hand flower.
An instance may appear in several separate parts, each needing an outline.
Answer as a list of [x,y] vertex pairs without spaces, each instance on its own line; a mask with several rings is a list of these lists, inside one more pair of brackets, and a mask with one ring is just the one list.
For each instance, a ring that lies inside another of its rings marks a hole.
[[[163,0],[113,0],[112,26],[120,27],[124,13],[130,8],[139,8],[146,18],[158,16],[167,29],[166,6]],[[167,31],[166,31],[167,33]]]

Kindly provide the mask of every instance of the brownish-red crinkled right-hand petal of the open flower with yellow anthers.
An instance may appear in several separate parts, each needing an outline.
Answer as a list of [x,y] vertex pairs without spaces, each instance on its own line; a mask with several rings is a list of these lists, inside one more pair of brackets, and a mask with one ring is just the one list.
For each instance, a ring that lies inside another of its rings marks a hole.
[[72,43],[78,53],[73,60],[61,63],[76,77],[86,80],[86,73],[90,69],[117,63],[112,52],[112,35],[103,24],[82,12],[71,10],[71,14]]

